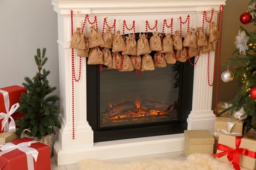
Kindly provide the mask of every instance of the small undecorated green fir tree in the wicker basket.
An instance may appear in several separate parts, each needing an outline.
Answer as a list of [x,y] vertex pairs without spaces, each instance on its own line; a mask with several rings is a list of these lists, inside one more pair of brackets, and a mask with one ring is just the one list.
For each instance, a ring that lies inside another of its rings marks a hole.
[[53,133],[53,127],[60,128],[58,120],[59,107],[56,105],[58,96],[51,95],[56,87],[49,85],[47,76],[50,71],[43,69],[43,65],[47,62],[45,57],[46,48],[37,49],[35,55],[35,63],[37,64],[37,73],[33,78],[26,76],[22,85],[28,90],[28,93],[22,93],[20,97],[20,112],[25,115],[17,120],[19,126],[16,133],[20,136],[24,129],[29,129],[28,136],[41,137]]

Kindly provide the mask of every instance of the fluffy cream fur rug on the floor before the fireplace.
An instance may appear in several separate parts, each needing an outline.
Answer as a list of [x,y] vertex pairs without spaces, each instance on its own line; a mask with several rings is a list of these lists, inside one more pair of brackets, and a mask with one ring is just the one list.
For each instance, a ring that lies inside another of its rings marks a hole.
[[79,170],[233,170],[232,164],[215,160],[209,154],[192,154],[186,160],[143,158],[129,163],[100,160],[82,160]]

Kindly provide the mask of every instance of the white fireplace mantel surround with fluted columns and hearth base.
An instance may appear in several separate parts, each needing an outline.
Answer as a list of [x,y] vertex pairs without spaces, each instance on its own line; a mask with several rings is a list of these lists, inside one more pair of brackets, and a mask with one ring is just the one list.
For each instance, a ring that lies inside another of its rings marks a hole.
[[[110,25],[116,18],[127,22],[135,20],[137,31],[144,31],[145,20],[174,18],[174,29],[179,28],[179,16],[183,20],[190,14],[192,25],[202,24],[203,11],[214,9],[213,20],[217,21],[220,5],[226,0],[52,0],[54,10],[58,14],[58,58],[60,75],[60,120],[61,129],[54,144],[54,158],[58,165],[77,163],[84,158],[108,160],[127,158],[147,154],[160,154],[183,150],[183,134],[142,137],[93,143],[93,130],[87,122],[86,106],[86,63],[82,59],[81,80],[74,82],[75,101],[75,139],[72,139],[72,54],[70,46],[70,10],[74,11],[74,25],[81,25],[85,14],[98,17],[99,28],[104,17],[108,17]],[[161,31],[161,22],[159,22]],[[87,24],[88,27],[89,24]],[[120,25],[120,23],[119,23]],[[118,27],[118,25],[117,25]],[[184,27],[186,27],[184,25]],[[206,25],[205,25],[206,27]],[[185,28],[184,28],[185,30]],[[101,31],[101,28],[100,28]],[[175,31],[175,30],[174,30]],[[129,33],[129,31],[125,31]],[[211,52],[210,78],[213,78],[214,52]],[[76,72],[78,72],[76,59]],[[135,75],[136,76],[136,75]],[[211,110],[213,88],[207,85],[207,56],[200,56],[194,67],[194,84],[192,110],[188,116],[188,129],[209,129],[213,132],[215,115]]]

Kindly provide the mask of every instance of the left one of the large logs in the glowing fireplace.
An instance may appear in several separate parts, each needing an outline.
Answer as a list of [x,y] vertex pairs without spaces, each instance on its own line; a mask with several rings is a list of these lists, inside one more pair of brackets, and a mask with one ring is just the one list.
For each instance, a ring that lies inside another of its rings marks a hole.
[[121,103],[119,105],[116,105],[112,108],[108,108],[107,111],[110,113],[110,118],[111,118],[114,116],[125,114],[128,111],[136,108],[137,107],[133,102],[126,102],[126,103]]

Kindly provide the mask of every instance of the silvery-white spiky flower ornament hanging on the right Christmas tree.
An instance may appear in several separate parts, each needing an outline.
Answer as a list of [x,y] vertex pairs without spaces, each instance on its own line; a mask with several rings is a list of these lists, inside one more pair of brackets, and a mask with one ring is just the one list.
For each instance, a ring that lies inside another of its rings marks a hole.
[[245,31],[242,31],[241,33],[239,30],[235,44],[240,54],[246,55],[246,51],[249,49],[249,46],[247,45],[248,40],[249,37],[246,35]]

